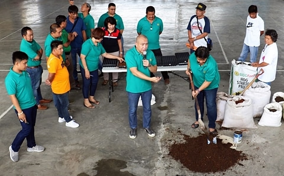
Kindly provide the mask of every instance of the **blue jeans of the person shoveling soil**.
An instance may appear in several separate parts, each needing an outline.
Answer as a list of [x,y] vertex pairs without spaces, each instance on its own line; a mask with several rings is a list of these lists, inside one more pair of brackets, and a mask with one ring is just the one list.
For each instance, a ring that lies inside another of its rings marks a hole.
[[[198,89],[198,87],[194,86],[195,89]],[[200,107],[201,112],[201,120],[203,120],[204,115],[204,98],[206,99],[206,107],[207,107],[207,117],[208,117],[208,127],[209,128],[215,128],[216,124],[215,121],[217,119],[217,105],[216,105],[216,95],[217,95],[218,88],[211,89],[211,90],[202,90],[197,95],[198,104]],[[198,121],[198,113],[196,110],[196,104],[195,107],[195,118],[196,121]]]

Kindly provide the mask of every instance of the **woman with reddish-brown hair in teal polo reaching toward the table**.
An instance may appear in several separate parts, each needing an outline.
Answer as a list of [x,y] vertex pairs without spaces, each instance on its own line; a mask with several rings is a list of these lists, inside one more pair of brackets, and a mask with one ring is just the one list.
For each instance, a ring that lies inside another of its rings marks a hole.
[[105,32],[100,27],[97,27],[92,32],[92,38],[86,40],[82,45],[80,70],[83,79],[83,97],[84,106],[90,109],[95,108],[93,104],[100,104],[99,101],[94,99],[94,95],[97,89],[99,81],[98,68],[99,68],[99,56],[103,56],[110,59],[117,59],[120,62],[123,58],[106,53],[101,41],[103,40]]

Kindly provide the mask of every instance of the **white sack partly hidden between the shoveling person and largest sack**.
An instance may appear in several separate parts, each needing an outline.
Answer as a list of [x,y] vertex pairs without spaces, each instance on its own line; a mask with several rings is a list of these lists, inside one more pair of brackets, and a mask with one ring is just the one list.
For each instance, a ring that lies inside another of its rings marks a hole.
[[224,113],[227,100],[229,95],[225,92],[218,92],[216,95],[216,105],[217,105],[217,119],[216,121],[224,120]]

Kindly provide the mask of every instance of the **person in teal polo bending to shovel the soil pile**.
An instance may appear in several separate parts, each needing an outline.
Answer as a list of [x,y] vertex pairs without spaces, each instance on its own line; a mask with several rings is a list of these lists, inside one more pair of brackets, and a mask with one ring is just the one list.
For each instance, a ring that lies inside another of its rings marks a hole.
[[[206,99],[207,116],[209,120],[209,132],[216,134],[215,121],[217,119],[216,94],[220,83],[220,74],[215,59],[209,55],[207,47],[200,46],[194,54],[188,59],[188,66],[185,73],[189,75],[189,69],[192,71],[192,78],[195,92],[192,96],[197,96],[200,106],[201,120],[204,115],[204,98]],[[198,113],[195,104],[196,121],[191,125],[192,128],[199,127]]]

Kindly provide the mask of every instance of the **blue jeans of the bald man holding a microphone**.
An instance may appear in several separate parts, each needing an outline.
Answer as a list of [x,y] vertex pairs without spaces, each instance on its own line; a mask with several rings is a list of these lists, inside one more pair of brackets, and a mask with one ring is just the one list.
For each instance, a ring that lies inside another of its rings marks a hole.
[[130,93],[128,92],[128,104],[129,104],[129,125],[130,128],[137,128],[137,106],[139,97],[141,96],[143,104],[143,128],[149,128],[151,122],[151,98],[152,89],[142,93]]

